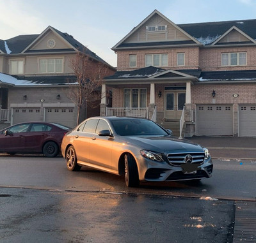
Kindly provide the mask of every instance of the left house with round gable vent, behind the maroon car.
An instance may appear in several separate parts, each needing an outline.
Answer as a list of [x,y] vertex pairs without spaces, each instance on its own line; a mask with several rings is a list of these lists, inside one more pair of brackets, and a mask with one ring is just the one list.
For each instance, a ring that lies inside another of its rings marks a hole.
[[[68,96],[77,81],[70,65],[77,52],[93,63],[115,68],[68,33],[47,27],[41,34],[0,40],[0,129],[24,121],[49,121],[76,126],[77,107]],[[99,100],[100,103],[100,100]],[[81,120],[100,114],[87,106]]]

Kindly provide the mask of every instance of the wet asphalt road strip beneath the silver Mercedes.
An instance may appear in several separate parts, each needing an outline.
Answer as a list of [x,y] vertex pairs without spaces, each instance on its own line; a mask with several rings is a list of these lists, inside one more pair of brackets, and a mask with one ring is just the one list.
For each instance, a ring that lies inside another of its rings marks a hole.
[[198,184],[144,182],[140,188],[127,188],[124,178],[109,173],[84,167],[80,172],[69,172],[61,157],[0,155],[0,186],[188,197],[211,196],[219,199],[255,201],[256,161],[213,159],[213,163],[212,177],[202,179]]

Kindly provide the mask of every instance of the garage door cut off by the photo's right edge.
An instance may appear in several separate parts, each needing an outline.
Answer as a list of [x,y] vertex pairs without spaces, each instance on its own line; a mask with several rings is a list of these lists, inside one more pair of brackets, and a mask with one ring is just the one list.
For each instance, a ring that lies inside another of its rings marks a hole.
[[256,105],[239,105],[239,136],[256,136]]

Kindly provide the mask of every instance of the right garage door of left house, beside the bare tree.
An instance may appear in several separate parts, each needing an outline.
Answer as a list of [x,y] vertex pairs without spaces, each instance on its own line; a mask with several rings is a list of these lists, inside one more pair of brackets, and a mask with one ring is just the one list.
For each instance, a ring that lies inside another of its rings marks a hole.
[[45,108],[45,121],[57,122],[74,128],[76,126],[76,115],[73,107],[51,107]]

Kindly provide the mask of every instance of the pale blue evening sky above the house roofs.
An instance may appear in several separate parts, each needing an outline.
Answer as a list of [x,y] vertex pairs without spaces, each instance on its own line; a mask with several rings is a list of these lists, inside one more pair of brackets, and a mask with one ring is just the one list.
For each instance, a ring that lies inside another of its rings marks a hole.
[[0,39],[68,33],[112,66],[112,47],[158,10],[175,24],[256,18],[256,0],[0,0]]

